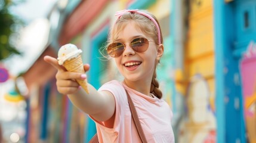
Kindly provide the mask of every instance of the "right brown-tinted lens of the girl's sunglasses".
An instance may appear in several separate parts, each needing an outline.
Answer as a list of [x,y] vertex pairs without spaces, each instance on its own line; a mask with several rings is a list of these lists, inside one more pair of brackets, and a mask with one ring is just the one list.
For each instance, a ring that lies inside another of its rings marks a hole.
[[144,52],[149,48],[149,41],[146,38],[135,38],[131,41],[131,47],[136,52]]

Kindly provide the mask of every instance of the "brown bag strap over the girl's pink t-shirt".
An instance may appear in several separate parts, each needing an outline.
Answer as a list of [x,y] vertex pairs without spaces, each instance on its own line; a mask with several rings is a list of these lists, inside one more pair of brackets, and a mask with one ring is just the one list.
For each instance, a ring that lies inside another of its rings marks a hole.
[[[143,129],[141,127],[140,120],[138,120],[138,114],[137,114],[137,111],[135,109],[135,106],[134,106],[134,104],[131,100],[131,97],[129,96],[126,89],[125,89],[125,92],[127,93],[127,98],[128,98],[129,108],[131,110],[132,120],[134,121],[135,127],[137,129],[138,136],[140,136],[141,142],[147,143],[147,139],[146,139],[146,136],[145,136],[145,134],[143,132]],[[89,143],[97,143],[97,142],[98,142],[98,135],[97,135],[97,133],[95,133],[95,135],[91,138]]]

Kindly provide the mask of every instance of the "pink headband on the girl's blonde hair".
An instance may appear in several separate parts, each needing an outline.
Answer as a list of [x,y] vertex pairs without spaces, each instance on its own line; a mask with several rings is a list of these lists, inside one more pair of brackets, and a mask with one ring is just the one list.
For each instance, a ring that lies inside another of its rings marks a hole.
[[128,12],[129,13],[137,13],[137,14],[144,15],[145,17],[147,17],[151,21],[153,21],[153,23],[156,26],[156,29],[158,30],[158,43],[160,45],[161,44],[161,37],[160,37],[161,34],[160,34],[160,28],[159,28],[158,23],[156,22],[156,20],[152,16],[150,16],[149,14],[143,13],[142,11],[138,11],[138,10],[122,10],[122,11],[118,11],[118,12],[116,12],[115,16],[120,18],[123,14],[128,13]]

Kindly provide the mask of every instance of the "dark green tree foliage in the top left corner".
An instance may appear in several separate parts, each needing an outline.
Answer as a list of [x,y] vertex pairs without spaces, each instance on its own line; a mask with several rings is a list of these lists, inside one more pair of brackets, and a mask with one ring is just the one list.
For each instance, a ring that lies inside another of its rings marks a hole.
[[0,0],[0,61],[12,54],[20,52],[10,42],[11,36],[16,33],[15,26],[22,21],[8,10],[15,3],[11,0]]

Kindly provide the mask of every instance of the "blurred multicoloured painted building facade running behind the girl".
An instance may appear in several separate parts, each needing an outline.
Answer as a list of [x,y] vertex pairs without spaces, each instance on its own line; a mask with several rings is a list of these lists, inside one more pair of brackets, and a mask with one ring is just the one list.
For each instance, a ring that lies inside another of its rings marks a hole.
[[[64,43],[81,48],[84,63],[91,64],[88,81],[95,88],[122,79],[115,63],[99,52],[106,44],[115,12],[149,10],[158,18],[164,36],[165,53],[158,79],[163,98],[174,113],[176,142],[255,142],[254,43],[247,49],[251,41],[256,41],[255,0],[100,0],[68,4],[50,36],[50,48],[57,52]],[[31,114],[44,114],[38,115],[41,119],[29,116],[27,121],[29,132],[40,131],[36,137],[27,138],[34,138],[32,142],[89,141],[95,133],[94,123],[57,93],[54,77],[49,81],[36,91],[40,104],[30,108]]]

